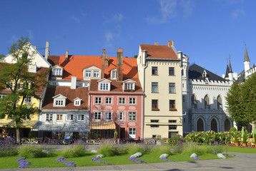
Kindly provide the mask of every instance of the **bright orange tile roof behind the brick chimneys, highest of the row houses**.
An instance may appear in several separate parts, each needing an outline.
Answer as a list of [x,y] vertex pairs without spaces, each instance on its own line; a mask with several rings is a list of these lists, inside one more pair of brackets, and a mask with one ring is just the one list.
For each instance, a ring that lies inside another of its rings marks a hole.
[[[59,61],[58,61],[59,58]],[[54,65],[64,68],[62,79],[70,80],[72,76],[77,76],[77,80],[83,80],[83,69],[89,66],[102,68],[102,56],[69,56],[65,61],[65,56],[49,56],[48,61]],[[117,68],[117,57],[109,57],[109,67],[105,67],[105,78],[110,78],[110,71]],[[138,78],[136,58],[124,58],[124,78]]]

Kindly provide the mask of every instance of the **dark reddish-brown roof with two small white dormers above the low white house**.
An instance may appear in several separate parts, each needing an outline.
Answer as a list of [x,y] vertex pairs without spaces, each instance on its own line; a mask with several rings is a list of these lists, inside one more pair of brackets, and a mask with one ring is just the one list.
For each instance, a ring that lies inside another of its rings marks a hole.
[[[65,107],[54,107],[54,97],[55,95],[64,95],[67,97]],[[74,106],[74,99],[81,98],[81,105]],[[88,109],[88,88],[78,87],[76,89],[71,89],[70,87],[56,86],[47,88],[42,109],[77,109],[85,110]]]

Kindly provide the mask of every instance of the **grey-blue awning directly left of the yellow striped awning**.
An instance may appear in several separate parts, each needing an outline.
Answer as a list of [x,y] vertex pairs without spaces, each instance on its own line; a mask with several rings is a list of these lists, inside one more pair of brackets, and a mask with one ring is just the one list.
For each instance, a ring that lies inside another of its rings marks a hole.
[[89,124],[88,123],[65,123],[62,132],[68,133],[89,133]]

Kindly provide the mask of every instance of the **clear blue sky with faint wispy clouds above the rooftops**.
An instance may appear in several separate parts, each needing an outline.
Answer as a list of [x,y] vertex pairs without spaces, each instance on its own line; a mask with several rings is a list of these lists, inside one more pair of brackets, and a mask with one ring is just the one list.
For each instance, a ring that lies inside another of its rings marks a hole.
[[167,45],[190,63],[225,73],[231,56],[232,70],[244,68],[245,43],[251,65],[256,63],[256,1],[254,0],[112,0],[112,1],[4,1],[0,10],[0,54],[21,36],[44,54],[100,56],[106,48],[116,56],[134,57],[139,44]]

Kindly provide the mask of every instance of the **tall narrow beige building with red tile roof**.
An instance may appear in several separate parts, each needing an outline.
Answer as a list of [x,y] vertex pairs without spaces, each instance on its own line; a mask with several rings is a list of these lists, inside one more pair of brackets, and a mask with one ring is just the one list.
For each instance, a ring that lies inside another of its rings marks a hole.
[[144,90],[144,138],[182,135],[182,52],[167,45],[141,44],[137,57]]

